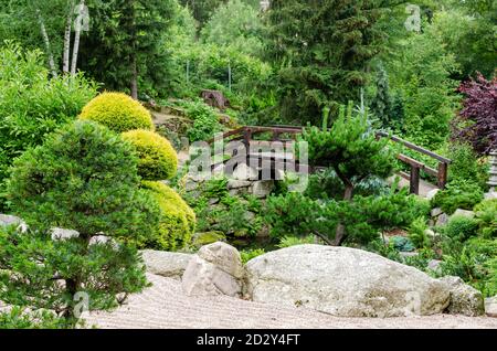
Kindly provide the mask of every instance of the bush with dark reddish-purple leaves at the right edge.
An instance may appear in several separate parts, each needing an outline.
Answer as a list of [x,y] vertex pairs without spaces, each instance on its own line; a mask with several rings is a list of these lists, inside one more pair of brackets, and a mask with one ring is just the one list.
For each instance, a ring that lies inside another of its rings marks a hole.
[[463,83],[463,109],[456,119],[454,139],[464,139],[476,152],[487,155],[497,149],[497,76],[491,81],[478,73],[476,81]]

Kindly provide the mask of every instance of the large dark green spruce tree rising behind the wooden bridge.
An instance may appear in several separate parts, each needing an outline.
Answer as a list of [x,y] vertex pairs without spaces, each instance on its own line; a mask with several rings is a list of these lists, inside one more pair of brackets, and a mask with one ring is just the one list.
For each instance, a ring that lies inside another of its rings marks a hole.
[[324,106],[358,100],[385,34],[376,23],[392,1],[273,0],[267,57],[284,118],[317,124]]

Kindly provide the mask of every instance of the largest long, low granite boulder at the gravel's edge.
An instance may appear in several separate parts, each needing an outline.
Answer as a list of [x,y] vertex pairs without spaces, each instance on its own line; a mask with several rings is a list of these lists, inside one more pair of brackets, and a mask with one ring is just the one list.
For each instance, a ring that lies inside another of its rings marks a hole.
[[321,245],[283,248],[250,260],[247,292],[254,301],[305,306],[342,317],[441,313],[445,284],[373,253]]

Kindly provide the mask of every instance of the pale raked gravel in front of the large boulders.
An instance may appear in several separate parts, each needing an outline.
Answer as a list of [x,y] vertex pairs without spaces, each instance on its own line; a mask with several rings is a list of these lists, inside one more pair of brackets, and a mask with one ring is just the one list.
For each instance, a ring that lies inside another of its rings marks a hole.
[[470,328],[497,329],[496,318],[440,315],[412,318],[338,318],[230,297],[187,297],[178,280],[148,275],[151,288],[134,295],[113,312],[94,312],[87,326],[113,329],[316,329]]

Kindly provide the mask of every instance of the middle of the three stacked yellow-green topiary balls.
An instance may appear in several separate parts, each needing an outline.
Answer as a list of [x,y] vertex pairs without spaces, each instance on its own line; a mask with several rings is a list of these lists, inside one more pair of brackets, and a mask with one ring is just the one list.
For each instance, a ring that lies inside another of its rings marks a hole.
[[150,130],[131,130],[123,134],[139,156],[138,174],[144,180],[166,180],[178,170],[178,155],[168,139]]

